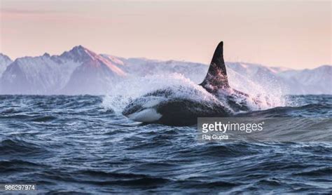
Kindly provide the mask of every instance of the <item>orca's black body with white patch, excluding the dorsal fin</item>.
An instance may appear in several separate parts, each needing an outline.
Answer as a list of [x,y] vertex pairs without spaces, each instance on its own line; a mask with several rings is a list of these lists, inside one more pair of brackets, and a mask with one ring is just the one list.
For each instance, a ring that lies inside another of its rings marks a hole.
[[123,110],[123,115],[134,121],[161,123],[170,126],[190,126],[197,123],[197,117],[229,116],[230,110],[216,100],[208,101],[177,97],[181,88],[164,88],[147,93],[132,102]]

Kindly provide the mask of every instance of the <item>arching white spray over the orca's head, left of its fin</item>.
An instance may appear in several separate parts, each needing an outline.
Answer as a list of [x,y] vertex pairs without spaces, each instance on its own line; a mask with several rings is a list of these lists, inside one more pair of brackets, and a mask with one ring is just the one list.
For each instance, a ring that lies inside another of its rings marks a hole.
[[131,100],[154,90],[165,88],[175,92],[172,93],[174,98],[191,99],[198,102],[219,101],[202,86],[199,86],[182,74],[174,73],[132,77],[117,83],[109,92],[109,95],[106,95],[104,98],[103,105],[106,108],[113,109],[116,113],[120,113]]

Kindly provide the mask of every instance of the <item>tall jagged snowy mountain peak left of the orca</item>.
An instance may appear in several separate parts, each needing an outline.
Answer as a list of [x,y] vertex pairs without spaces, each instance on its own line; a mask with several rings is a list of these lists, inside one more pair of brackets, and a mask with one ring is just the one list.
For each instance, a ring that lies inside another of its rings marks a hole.
[[103,94],[125,75],[101,55],[76,46],[62,53],[18,58],[1,76],[3,94]]

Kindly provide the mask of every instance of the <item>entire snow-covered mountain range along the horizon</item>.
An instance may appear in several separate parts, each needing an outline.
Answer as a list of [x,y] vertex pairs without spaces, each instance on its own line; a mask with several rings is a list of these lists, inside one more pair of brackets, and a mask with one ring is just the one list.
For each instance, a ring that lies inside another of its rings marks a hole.
[[[304,70],[244,62],[226,62],[226,66],[230,86],[247,93],[277,89],[283,94],[332,94],[331,65]],[[98,55],[83,46],[61,55],[45,53],[14,62],[0,55],[0,71],[1,67],[1,94],[45,95],[106,94],[118,81],[153,74],[179,73],[200,83],[208,69],[208,65],[195,62]]]

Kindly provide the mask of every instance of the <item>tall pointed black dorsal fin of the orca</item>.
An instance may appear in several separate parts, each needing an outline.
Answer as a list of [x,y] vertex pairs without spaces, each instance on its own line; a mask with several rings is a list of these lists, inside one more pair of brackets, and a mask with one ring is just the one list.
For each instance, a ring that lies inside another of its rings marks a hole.
[[223,61],[223,41],[216,46],[216,51],[214,51],[214,55],[209,66],[209,70],[207,71],[207,76],[200,86],[205,88],[210,93],[216,92],[220,88],[229,88],[226,66]]

